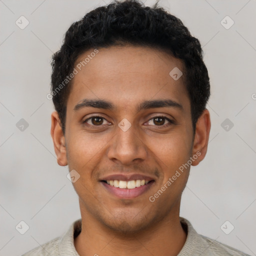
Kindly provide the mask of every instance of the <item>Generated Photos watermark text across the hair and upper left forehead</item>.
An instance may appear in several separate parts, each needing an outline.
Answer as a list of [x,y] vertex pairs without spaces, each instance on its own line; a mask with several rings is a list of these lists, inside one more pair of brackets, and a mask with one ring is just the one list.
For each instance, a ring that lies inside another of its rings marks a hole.
[[50,93],[46,95],[47,99],[52,99],[53,96],[55,96],[65,85],[81,70],[83,66],[85,66],[87,63],[90,62],[90,60],[95,57],[95,55],[98,53],[98,49],[94,49],[90,54],[87,54],[87,57],[85,57],[83,60],[81,60],[76,66],[74,67],[73,71],[66,76],[66,78]]

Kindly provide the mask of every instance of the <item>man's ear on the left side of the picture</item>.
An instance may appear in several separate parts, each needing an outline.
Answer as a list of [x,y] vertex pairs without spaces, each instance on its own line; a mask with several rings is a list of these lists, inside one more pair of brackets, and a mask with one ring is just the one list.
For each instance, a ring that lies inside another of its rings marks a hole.
[[67,165],[65,137],[56,111],[51,113],[50,135],[53,140],[57,163],[61,166]]

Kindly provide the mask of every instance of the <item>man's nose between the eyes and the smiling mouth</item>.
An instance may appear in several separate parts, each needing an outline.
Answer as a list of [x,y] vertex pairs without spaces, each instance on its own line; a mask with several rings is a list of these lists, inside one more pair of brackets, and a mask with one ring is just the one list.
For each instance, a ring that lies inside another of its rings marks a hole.
[[139,137],[139,132],[134,125],[131,125],[126,131],[117,126],[116,133],[110,141],[107,156],[110,160],[128,165],[144,160],[147,152],[147,147],[142,137]]

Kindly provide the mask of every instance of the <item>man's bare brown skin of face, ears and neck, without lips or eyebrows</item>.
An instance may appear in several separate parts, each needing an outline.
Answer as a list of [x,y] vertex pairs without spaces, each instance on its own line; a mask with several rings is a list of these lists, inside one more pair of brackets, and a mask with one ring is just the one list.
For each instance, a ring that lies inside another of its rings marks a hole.
[[[205,156],[210,131],[209,111],[196,123],[193,136],[190,101],[183,76],[170,77],[182,62],[156,49],[112,46],[99,52],[73,78],[67,100],[63,134],[57,112],[51,114],[51,136],[59,165],[75,169],[73,183],[79,197],[82,230],[74,240],[81,256],[87,255],[177,255],[186,240],[179,222],[179,207],[190,166],[154,202],[154,195],[189,157],[200,152],[191,165]],[[78,59],[83,60],[90,49]],[[84,107],[74,111],[83,98],[104,99],[115,108]],[[182,105],[136,111],[144,100],[172,99]],[[104,119],[82,121],[93,114]],[[175,121],[157,122],[164,115]],[[131,126],[123,131],[118,123]],[[94,128],[92,127],[94,125]],[[163,127],[161,127],[163,126]],[[120,173],[148,174],[152,186],[133,199],[110,194],[100,177]]]

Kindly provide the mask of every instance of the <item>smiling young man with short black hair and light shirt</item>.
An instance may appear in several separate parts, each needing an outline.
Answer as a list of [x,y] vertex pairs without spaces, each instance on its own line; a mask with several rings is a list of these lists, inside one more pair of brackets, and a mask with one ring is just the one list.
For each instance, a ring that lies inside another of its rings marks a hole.
[[210,86],[178,18],[133,0],[90,11],[53,55],[51,84],[51,136],[81,219],[24,255],[246,255],[179,217],[207,151]]

